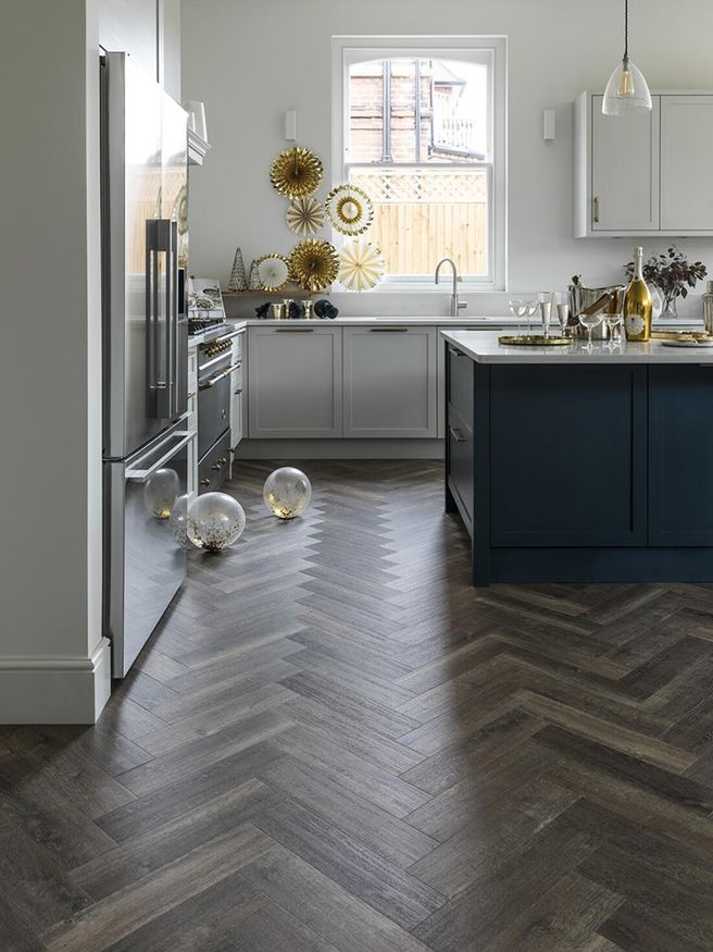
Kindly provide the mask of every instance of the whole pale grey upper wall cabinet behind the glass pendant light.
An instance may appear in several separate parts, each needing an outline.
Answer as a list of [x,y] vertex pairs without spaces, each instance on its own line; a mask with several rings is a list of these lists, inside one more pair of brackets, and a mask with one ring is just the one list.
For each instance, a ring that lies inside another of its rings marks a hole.
[[608,116],[575,101],[574,235],[713,235],[713,96],[652,96],[651,112]]

